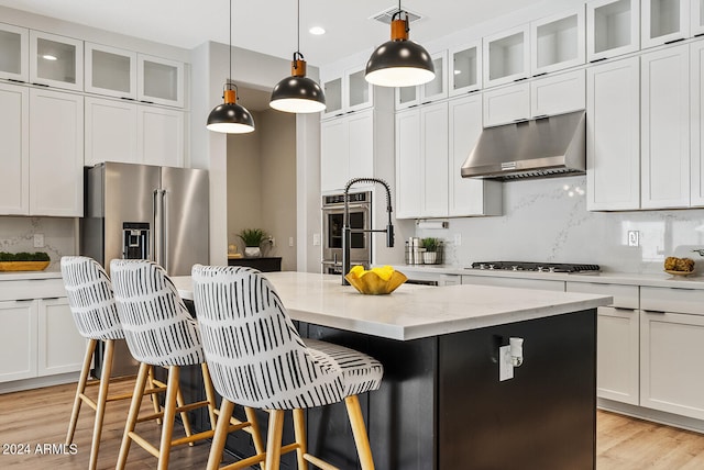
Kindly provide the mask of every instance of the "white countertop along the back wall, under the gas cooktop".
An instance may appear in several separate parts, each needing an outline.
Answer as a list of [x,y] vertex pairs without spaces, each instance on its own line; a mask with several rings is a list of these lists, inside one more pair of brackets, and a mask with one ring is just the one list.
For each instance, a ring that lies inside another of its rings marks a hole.
[[[414,266],[396,265],[394,268],[406,276],[413,272],[429,275],[461,275],[461,276],[487,276],[501,278],[542,279],[571,282],[595,282],[607,284],[648,286],[658,288],[704,289],[704,276],[671,276],[667,272],[646,273],[637,272],[597,272],[597,273],[565,273],[565,272],[537,272],[537,271],[510,271],[472,269],[462,266]],[[408,276],[413,278],[411,276]]]

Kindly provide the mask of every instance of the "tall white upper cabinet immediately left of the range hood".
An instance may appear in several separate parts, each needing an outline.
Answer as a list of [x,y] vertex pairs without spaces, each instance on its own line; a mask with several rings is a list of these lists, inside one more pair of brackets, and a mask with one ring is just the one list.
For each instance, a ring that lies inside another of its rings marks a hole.
[[503,186],[499,181],[462,178],[462,165],[474,148],[482,133],[482,97],[450,100],[449,105],[449,166],[448,166],[448,215],[464,217],[473,215],[501,215],[503,211]]

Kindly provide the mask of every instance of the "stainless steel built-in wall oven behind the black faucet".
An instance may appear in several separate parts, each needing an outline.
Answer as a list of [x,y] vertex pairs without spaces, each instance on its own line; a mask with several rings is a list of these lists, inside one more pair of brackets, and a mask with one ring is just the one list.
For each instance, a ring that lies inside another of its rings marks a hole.
[[[372,191],[349,193],[350,226],[372,230]],[[322,272],[342,272],[342,228],[344,193],[322,197]],[[350,261],[369,269],[372,264],[372,237],[369,232],[351,234]]]

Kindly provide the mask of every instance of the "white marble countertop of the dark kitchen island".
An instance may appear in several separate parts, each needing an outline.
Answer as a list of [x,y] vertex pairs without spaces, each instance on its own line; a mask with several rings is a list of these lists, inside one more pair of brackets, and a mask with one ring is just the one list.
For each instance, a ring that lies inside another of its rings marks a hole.
[[[363,295],[340,276],[267,272],[292,318],[391,339],[416,339],[526,320],[612,302],[610,296],[495,288],[403,284],[389,295]],[[189,276],[172,278],[193,299]]]

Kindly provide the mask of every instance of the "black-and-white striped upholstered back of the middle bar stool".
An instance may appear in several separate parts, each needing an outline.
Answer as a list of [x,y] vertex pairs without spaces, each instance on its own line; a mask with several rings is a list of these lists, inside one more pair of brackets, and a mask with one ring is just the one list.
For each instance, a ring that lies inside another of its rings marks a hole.
[[205,362],[198,324],[161,266],[142,259],[113,259],[110,276],[134,359],[163,367]]

